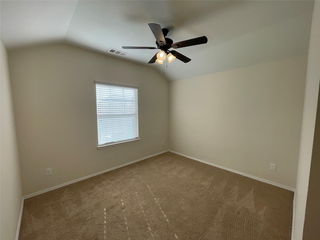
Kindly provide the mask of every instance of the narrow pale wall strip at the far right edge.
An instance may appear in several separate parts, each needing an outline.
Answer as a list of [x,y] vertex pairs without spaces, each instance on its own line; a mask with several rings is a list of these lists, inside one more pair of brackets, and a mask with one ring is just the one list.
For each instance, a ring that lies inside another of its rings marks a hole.
[[[315,116],[320,80],[320,1],[314,1],[307,60],[301,139],[295,187],[292,239],[301,240],[308,193]],[[319,174],[318,172],[317,174]],[[312,239],[313,240],[313,239]]]

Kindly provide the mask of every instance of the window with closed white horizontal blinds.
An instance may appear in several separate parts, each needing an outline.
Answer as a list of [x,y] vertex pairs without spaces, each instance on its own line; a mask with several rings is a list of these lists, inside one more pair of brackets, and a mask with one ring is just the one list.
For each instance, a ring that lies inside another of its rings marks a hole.
[[138,89],[95,82],[98,147],[138,138]]

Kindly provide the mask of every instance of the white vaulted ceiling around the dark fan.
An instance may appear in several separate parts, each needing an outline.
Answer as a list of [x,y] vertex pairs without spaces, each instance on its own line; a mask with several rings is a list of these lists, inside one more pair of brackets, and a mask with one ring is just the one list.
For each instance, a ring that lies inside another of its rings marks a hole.
[[[306,54],[313,1],[1,0],[5,47],[65,41],[154,67],[168,80]],[[173,42],[205,35],[202,45],[176,49],[192,60],[147,64],[157,49],[147,23],[169,29]]]

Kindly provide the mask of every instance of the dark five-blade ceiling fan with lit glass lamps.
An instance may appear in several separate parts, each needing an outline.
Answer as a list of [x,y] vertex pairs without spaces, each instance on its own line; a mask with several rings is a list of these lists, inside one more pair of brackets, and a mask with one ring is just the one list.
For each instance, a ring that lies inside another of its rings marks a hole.
[[200,36],[184,41],[174,42],[172,39],[165,37],[166,34],[169,32],[166,28],[161,28],[159,24],[156,23],[149,23],[148,24],[156,41],[156,47],[153,46],[122,46],[123,49],[160,49],[159,52],[157,52],[151,60],[149,60],[148,63],[154,63],[155,61],[163,64],[163,60],[165,59],[165,55],[167,56],[168,62],[171,62],[175,58],[183,61],[183,62],[189,62],[191,59],[186,57],[185,55],[182,55],[181,53],[175,51],[175,50],[169,50],[172,48],[180,48],[185,46],[193,46],[198,44],[203,44],[208,41],[206,36]]

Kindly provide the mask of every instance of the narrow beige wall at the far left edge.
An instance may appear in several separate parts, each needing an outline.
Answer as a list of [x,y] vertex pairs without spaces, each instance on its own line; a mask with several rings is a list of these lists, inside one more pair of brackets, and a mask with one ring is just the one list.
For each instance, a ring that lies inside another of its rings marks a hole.
[[22,187],[7,53],[2,42],[0,44],[0,239],[14,239],[21,209]]

